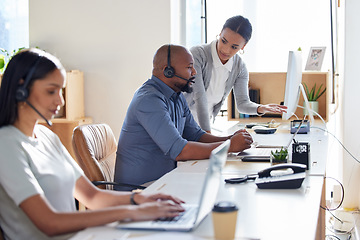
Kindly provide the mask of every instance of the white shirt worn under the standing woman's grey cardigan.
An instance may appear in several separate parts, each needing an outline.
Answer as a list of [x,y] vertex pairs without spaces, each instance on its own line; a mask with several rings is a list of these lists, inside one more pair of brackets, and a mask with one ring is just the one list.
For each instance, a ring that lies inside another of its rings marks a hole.
[[225,82],[229,77],[234,62],[233,58],[230,58],[225,64],[220,61],[216,50],[216,42],[217,41],[214,40],[211,43],[211,55],[214,68],[212,69],[209,87],[206,90],[209,113],[213,112],[214,106],[218,104],[224,96]]

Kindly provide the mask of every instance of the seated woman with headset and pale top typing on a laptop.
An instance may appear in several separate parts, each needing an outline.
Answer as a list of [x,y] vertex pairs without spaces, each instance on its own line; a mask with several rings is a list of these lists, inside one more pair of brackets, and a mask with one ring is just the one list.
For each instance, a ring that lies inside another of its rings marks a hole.
[[[3,75],[0,226],[5,239],[68,239],[91,226],[183,211],[182,201],[169,195],[106,191],[92,185],[59,138],[37,124],[42,118],[50,120],[64,105],[64,86],[60,62],[37,49],[15,55]],[[77,212],[74,198],[91,210]]]

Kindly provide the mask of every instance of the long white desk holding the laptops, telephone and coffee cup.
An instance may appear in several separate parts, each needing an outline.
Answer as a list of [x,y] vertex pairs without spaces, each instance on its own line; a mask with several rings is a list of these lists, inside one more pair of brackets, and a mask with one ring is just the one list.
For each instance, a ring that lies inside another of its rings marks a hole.
[[[287,131],[280,127],[273,135],[252,135],[261,144],[286,144],[291,137],[288,127]],[[324,205],[325,200],[327,136],[321,130],[311,129],[310,134],[298,135],[296,139],[310,142],[311,147],[311,168],[307,171],[307,177],[301,188],[265,190],[258,189],[254,182],[230,185],[222,181],[217,200],[234,201],[240,209],[236,239],[325,238],[325,212],[320,209],[320,204]],[[176,169],[154,182],[144,190],[144,193],[164,192],[176,195],[187,203],[197,203],[207,166],[207,160],[179,162]],[[222,178],[256,173],[269,166],[270,163],[241,162],[238,157],[229,155]],[[190,233],[120,231],[109,226],[103,228],[106,234],[113,232],[118,234],[117,236],[120,233],[130,232],[129,239],[140,239],[138,238],[140,236],[141,239],[158,239],[162,236],[165,239],[169,234],[174,238],[181,236],[182,239],[213,239],[211,214]],[[99,231],[99,228],[94,229]],[[92,229],[87,229],[82,234],[86,232],[91,233]]]

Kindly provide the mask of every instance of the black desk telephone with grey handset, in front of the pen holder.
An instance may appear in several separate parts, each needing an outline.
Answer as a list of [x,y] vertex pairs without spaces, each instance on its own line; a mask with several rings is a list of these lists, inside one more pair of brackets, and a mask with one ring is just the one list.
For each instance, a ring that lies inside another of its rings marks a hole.
[[278,164],[258,172],[255,184],[261,189],[299,188],[306,177],[305,170],[304,164]]

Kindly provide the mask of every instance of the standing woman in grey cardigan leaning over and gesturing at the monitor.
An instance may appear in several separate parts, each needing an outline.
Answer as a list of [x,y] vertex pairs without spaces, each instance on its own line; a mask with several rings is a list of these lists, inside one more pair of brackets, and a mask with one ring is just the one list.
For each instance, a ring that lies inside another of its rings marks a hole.
[[194,118],[207,132],[211,130],[210,120],[214,121],[231,89],[239,112],[262,115],[286,111],[285,106],[260,105],[250,101],[249,73],[244,61],[236,53],[244,51],[251,34],[249,20],[243,16],[234,16],[226,20],[218,39],[190,49],[197,74],[192,85],[193,92],[186,93],[185,97]]

